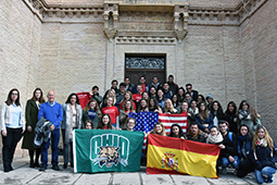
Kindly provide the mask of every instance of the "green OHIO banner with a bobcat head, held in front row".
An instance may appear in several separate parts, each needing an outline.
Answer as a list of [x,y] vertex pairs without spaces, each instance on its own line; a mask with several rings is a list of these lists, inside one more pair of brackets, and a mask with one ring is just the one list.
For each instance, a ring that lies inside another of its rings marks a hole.
[[75,130],[74,172],[137,172],[143,143],[142,132]]

